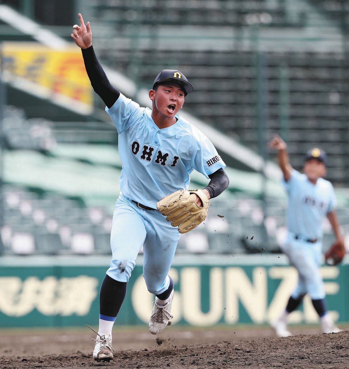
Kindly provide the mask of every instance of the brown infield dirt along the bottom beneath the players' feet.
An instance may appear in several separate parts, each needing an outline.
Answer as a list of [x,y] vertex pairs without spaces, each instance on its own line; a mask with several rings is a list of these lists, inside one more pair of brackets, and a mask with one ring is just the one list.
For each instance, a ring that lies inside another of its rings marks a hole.
[[113,333],[114,360],[92,359],[84,330],[0,331],[0,368],[349,368],[349,331],[319,334],[294,328],[277,338],[269,328],[188,330],[169,327],[158,336],[128,328]]

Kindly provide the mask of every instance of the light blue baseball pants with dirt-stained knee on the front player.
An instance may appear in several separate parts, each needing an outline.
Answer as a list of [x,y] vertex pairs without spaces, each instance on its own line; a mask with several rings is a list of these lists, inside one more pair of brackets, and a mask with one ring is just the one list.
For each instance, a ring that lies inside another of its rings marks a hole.
[[143,246],[143,277],[148,291],[156,295],[165,292],[179,236],[177,228],[158,210],[141,209],[120,193],[113,214],[110,236],[113,258],[107,275],[128,282]]

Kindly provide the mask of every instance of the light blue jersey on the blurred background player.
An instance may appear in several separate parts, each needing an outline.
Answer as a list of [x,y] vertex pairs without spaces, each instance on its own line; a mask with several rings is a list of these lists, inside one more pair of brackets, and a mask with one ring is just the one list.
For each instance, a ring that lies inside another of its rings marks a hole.
[[328,180],[319,178],[316,184],[305,174],[293,169],[290,179],[282,180],[288,194],[288,231],[304,238],[322,238],[322,221],[334,210],[336,197]]

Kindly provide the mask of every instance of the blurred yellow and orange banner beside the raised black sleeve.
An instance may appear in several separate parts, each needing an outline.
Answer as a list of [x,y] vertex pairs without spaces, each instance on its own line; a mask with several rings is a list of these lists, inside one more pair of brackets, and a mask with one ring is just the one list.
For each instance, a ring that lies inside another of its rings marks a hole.
[[2,45],[5,72],[37,83],[53,94],[93,105],[92,87],[77,46],[57,51],[35,42]]

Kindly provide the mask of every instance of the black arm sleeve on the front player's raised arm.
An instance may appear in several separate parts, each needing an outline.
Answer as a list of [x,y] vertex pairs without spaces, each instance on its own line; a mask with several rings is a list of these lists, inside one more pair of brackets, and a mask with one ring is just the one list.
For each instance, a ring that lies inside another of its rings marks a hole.
[[86,72],[91,81],[93,90],[99,94],[101,99],[104,101],[104,104],[106,104],[108,108],[111,108],[119,98],[120,91],[110,84],[106,73],[104,73],[97,56],[94,53],[93,46],[90,46],[87,49],[81,49],[81,51]]

